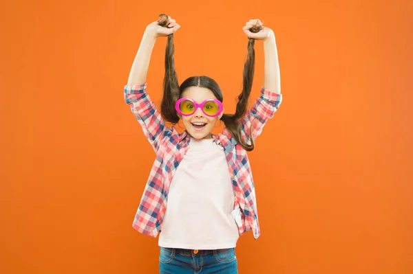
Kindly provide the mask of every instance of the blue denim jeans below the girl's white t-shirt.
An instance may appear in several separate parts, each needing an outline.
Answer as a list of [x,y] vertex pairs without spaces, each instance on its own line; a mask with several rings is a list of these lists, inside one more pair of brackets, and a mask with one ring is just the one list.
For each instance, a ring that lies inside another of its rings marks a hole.
[[160,274],[237,274],[235,249],[193,251],[160,248]]

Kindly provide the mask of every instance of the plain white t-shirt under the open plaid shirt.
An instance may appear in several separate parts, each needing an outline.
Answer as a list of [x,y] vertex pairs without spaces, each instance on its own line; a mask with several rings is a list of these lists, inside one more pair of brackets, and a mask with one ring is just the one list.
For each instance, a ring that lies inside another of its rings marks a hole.
[[235,247],[234,192],[224,148],[193,139],[169,187],[159,246],[180,249]]

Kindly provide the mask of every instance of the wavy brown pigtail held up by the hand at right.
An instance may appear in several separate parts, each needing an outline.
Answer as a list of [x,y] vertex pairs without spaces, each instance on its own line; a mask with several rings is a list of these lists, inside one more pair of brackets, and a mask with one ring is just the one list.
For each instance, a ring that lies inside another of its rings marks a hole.
[[[262,27],[252,27],[251,32],[260,32]],[[222,122],[224,122],[226,129],[229,130],[231,135],[235,138],[238,144],[244,148],[246,151],[251,151],[254,149],[254,139],[253,139],[253,127],[250,127],[249,139],[251,140],[251,145],[248,144],[247,140],[242,139],[241,135],[241,122],[240,119],[244,117],[247,107],[248,98],[251,94],[251,89],[253,87],[254,71],[255,71],[255,39],[248,38],[248,54],[246,56],[246,61],[244,65],[244,71],[242,76],[242,92],[238,95],[238,102],[234,114],[224,114],[221,117]]]

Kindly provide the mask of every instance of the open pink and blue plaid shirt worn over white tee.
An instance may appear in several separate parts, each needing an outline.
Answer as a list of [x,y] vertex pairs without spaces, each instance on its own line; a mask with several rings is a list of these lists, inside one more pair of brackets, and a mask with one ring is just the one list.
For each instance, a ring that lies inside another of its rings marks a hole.
[[[156,237],[162,229],[167,210],[169,185],[176,168],[189,148],[190,137],[186,130],[184,133],[178,133],[175,127],[169,128],[165,125],[164,119],[149,98],[146,88],[147,83],[126,85],[124,95],[125,102],[131,107],[132,113],[156,152],[156,159],[136,212],[133,227],[140,233]],[[281,102],[281,94],[262,88],[260,98],[257,98],[253,108],[242,119],[242,138],[249,140],[251,126],[253,138],[257,138]],[[253,123],[251,123],[252,120]],[[241,222],[238,224],[239,233],[242,235],[245,231],[252,229],[254,238],[257,239],[260,236],[260,225],[253,176],[246,150],[237,144],[226,128],[219,135],[213,135],[213,140],[223,147],[228,161],[235,194],[234,208],[241,216]]]

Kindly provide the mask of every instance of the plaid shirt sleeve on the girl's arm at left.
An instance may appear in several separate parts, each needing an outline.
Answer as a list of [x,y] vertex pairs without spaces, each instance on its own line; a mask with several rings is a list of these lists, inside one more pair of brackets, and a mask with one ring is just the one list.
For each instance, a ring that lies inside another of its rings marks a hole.
[[160,140],[169,133],[170,129],[165,126],[165,120],[149,98],[146,88],[147,83],[126,85],[124,88],[125,102],[131,107],[132,113],[142,126],[143,133],[153,150],[158,152]]

